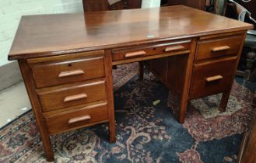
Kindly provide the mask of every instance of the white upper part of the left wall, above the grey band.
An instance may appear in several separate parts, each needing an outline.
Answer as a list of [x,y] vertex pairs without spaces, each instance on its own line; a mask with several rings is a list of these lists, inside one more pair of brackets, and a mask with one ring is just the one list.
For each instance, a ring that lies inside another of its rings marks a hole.
[[21,16],[82,11],[82,0],[0,0],[0,67],[8,63]]

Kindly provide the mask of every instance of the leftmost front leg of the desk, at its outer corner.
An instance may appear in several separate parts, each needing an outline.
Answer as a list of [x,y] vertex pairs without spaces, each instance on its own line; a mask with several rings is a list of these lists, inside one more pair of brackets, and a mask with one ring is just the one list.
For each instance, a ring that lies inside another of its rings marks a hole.
[[40,109],[40,103],[37,99],[37,93],[33,88],[33,79],[32,72],[30,71],[29,66],[26,64],[26,61],[19,61],[19,68],[23,75],[23,80],[26,85],[26,90],[30,97],[30,103],[33,108],[33,115],[37,120],[38,130],[40,132],[41,139],[44,145],[44,153],[46,155],[47,161],[54,161],[54,151],[52,150],[50,135],[47,130],[47,125],[45,123],[44,117],[42,116]]

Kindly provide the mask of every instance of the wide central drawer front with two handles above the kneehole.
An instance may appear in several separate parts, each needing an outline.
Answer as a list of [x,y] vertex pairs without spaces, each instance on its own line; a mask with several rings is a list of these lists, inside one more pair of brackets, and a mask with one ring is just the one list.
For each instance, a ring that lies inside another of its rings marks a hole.
[[112,50],[112,60],[121,61],[132,58],[146,57],[156,54],[167,54],[175,51],[189,50],[191,40],[172,43],[158,43],[153,45],[136,46],[124,49]]

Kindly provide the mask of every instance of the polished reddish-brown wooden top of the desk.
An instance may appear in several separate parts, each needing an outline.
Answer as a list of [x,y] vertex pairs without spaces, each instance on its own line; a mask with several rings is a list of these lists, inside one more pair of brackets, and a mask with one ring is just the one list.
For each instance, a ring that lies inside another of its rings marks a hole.
[[108,12],[23,16],[9,60],[123,47],[252,29],[184,5]]

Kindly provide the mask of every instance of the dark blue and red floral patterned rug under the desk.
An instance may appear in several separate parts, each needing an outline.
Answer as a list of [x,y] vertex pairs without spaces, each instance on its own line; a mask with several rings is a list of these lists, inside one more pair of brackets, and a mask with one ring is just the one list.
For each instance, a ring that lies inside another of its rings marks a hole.
[[[114,70],[117,141],[107,123],[51,137],[56,162],[236,162],[242,134],[251,121],[253,83],[234,82],[225,113],[221,95],[190,102],[177,123],[177,95],[153,75],[137,80],[137,64]],[[0,130],[0,162],[46,162],[30,111]]]

